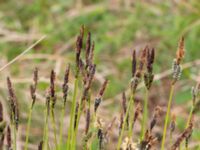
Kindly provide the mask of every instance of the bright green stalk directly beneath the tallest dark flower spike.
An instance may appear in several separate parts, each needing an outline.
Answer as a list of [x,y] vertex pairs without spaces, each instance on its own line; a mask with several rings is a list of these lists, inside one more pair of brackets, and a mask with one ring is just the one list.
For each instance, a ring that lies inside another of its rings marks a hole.
[[74,117],[75,117],[75,109],[76,109],[76,96],[77,96],[77,90],[78,90],[78,77],[75,78],[74,82],[74,93],[73,93],[73,99],[72,99],[72,109],[70,111],[70,126],[68,131],[68,138],[67,138],[67,149],[70,149],[71,145],[71,136],[73,135],[74,127]]

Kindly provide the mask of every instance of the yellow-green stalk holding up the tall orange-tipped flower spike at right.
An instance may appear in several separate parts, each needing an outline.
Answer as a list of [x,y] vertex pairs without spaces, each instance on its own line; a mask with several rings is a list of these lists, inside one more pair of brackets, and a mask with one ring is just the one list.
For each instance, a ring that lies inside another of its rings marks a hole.
[[169,122],[169,116],[170,116],[169,113],[170,113],[170,109],[171,109],[173,93],[174,93],[174,85],[172,84],[171,89],[170,89],[168,106],[167,106],[167,114],[165,116],[165,125],[164,125],[164,130],[163,130],[161,150],[164,150],[164,146],[165,146],[165,138],[166,138],[166,133],[167,133],[167,125],[168,125],[168,122]]

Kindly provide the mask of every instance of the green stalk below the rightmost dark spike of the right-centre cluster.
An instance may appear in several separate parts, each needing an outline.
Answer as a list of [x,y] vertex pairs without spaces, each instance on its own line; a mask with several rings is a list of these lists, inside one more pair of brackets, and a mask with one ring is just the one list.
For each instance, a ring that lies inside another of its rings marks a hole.
[[143,140],[145,132],[146,132],[146,124],[147,124],[147,117],[148,117],[148,97],[149,97],[149,90],[146,89],[145,100],[144,100],[144,112],[143,112],[143,117],[142,117],[142,132],[141,132],[140,140]]

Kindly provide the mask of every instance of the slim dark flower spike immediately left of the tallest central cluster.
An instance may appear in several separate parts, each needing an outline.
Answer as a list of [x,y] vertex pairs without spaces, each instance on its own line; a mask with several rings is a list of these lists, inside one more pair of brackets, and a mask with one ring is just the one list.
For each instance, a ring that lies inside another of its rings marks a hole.
[[70,65],[67,65],[66,70],[65,70],[64,82],[62,85],[64,105],[66,104],[67,96],[68,96],[69,72],[70,72]]

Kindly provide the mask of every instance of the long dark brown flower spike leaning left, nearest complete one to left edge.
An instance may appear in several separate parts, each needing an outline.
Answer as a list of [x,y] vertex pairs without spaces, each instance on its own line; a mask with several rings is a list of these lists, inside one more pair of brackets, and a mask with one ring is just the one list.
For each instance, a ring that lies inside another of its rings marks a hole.
[[19,124],[19,108],[17,103],[17,97],[12,87],[12,83],[10,78],[7,78],[7,86],[8,86],[8,94],[9,94],[9,102],[10,102],[10,118],[11,122],[15,124],[16,129],[18,129]]

